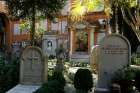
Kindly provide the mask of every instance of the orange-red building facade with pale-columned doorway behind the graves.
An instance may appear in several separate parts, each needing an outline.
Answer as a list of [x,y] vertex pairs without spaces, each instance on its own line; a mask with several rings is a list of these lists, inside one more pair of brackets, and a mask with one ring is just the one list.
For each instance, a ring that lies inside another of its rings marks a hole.
[[[98,45],[100,40],[107,34],[107,16],[102,9],[93,11],[86,15],[86,20],[79,23],[72,23],[69,20],[72,0],[68,0],[61,15],[50,21],[48,19],[37,20],[36,30],[39,28],[45,32],[55,32],[67,39],[67,50],[70,57],[75,55],[88,55],[94,45]],[[22,20],[23,21],[23,20]],[[14,46],[26,46],[30,41],[29,29],[20,31],[21,20],[12,20],[8,15],[6,2],[0,1],[0,48],[11,49]]]

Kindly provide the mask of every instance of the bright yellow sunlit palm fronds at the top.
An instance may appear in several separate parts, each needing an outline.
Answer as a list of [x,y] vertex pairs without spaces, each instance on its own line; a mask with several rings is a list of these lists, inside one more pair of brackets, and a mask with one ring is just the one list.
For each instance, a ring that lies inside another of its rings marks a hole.
[[71,20],[81,21],[87,12],[93,12],[100,0],[74,0],[71,7]]

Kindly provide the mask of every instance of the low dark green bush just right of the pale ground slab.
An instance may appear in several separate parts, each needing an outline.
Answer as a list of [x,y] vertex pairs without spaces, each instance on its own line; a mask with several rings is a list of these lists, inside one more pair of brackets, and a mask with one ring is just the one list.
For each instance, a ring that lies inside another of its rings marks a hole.
[[65,93],[65,83],[62,72],[54,72],[50,81],[44,83],[42,87],[34,93]]

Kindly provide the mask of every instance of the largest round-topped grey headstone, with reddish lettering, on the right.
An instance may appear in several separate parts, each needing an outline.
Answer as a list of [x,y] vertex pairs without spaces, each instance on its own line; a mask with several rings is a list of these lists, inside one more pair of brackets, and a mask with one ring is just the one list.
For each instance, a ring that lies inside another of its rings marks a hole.
[[130,44],[124,36],[112,34],[103,39],[99,54],[97,89],[109,90],[114,73],[129,65],[130,53]]

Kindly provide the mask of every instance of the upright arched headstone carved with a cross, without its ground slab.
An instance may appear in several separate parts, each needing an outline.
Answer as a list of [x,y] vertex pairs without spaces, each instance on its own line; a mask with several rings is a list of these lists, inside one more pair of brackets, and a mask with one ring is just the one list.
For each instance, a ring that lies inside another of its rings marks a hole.
[[47,80],[47,62],[40,48],[25,48],[20,63],[20,84],[39,85]]

